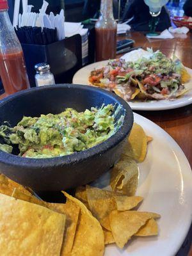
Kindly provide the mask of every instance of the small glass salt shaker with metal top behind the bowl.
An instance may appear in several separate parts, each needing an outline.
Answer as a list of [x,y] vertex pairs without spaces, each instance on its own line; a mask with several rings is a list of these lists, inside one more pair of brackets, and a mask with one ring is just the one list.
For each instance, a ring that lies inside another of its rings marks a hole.
[[35,75],[36,86],[55,84],[54,76],[50,71],[49,64],[38,63],[35,65],[35,70],[36,70],[36,75]]

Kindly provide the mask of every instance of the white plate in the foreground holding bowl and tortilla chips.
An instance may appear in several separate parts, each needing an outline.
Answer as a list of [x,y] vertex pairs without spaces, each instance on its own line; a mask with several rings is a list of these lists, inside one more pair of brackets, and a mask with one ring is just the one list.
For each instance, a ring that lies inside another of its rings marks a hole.
[[[192,174],[186,156],[179,145],[159,126],[134,114],[148,136],[145,161],[139,164],[139,185],[136,195],[144,197],[139,211],[161,214],[157,220],[159,236],[131,239],[124,250],[111,244],[105,256],[175,256],[191,225]],[[108,188],[109,173],[94,182],[99,188]]]

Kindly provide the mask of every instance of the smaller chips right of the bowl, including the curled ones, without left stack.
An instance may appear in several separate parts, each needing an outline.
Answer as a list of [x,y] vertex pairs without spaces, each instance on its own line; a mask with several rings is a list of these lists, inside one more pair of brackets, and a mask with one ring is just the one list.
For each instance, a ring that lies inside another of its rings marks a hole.
[[143,128],[134,123],[120,161],[111,170],[112,191],[86,185],[76,189],[76,198],[97,218],[104,232],[104,243],[116,243],[123,248],[133,236],[155,236],[158,234],[154,212],[136,211],[143,200],[135,196],[138,187],[137,163],[144,161],[147,143],[152,138]]

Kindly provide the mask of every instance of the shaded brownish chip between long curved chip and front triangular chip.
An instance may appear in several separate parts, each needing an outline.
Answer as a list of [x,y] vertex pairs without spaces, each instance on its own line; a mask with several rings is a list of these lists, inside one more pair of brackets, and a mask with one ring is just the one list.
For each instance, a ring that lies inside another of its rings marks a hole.
[[111,230],[109,213],[116,209],[116,202],[112,191],[86,186],[86,194],[93,216],[99,220],[102,227]]

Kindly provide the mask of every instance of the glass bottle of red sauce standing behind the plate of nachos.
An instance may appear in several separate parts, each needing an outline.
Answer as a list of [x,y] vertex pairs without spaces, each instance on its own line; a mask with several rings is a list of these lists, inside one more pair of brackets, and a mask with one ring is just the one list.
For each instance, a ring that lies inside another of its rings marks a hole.
[[96,61],[115,58],[116,27],[113,17],[113,0],[101,0],[100,16],[95,24]]

